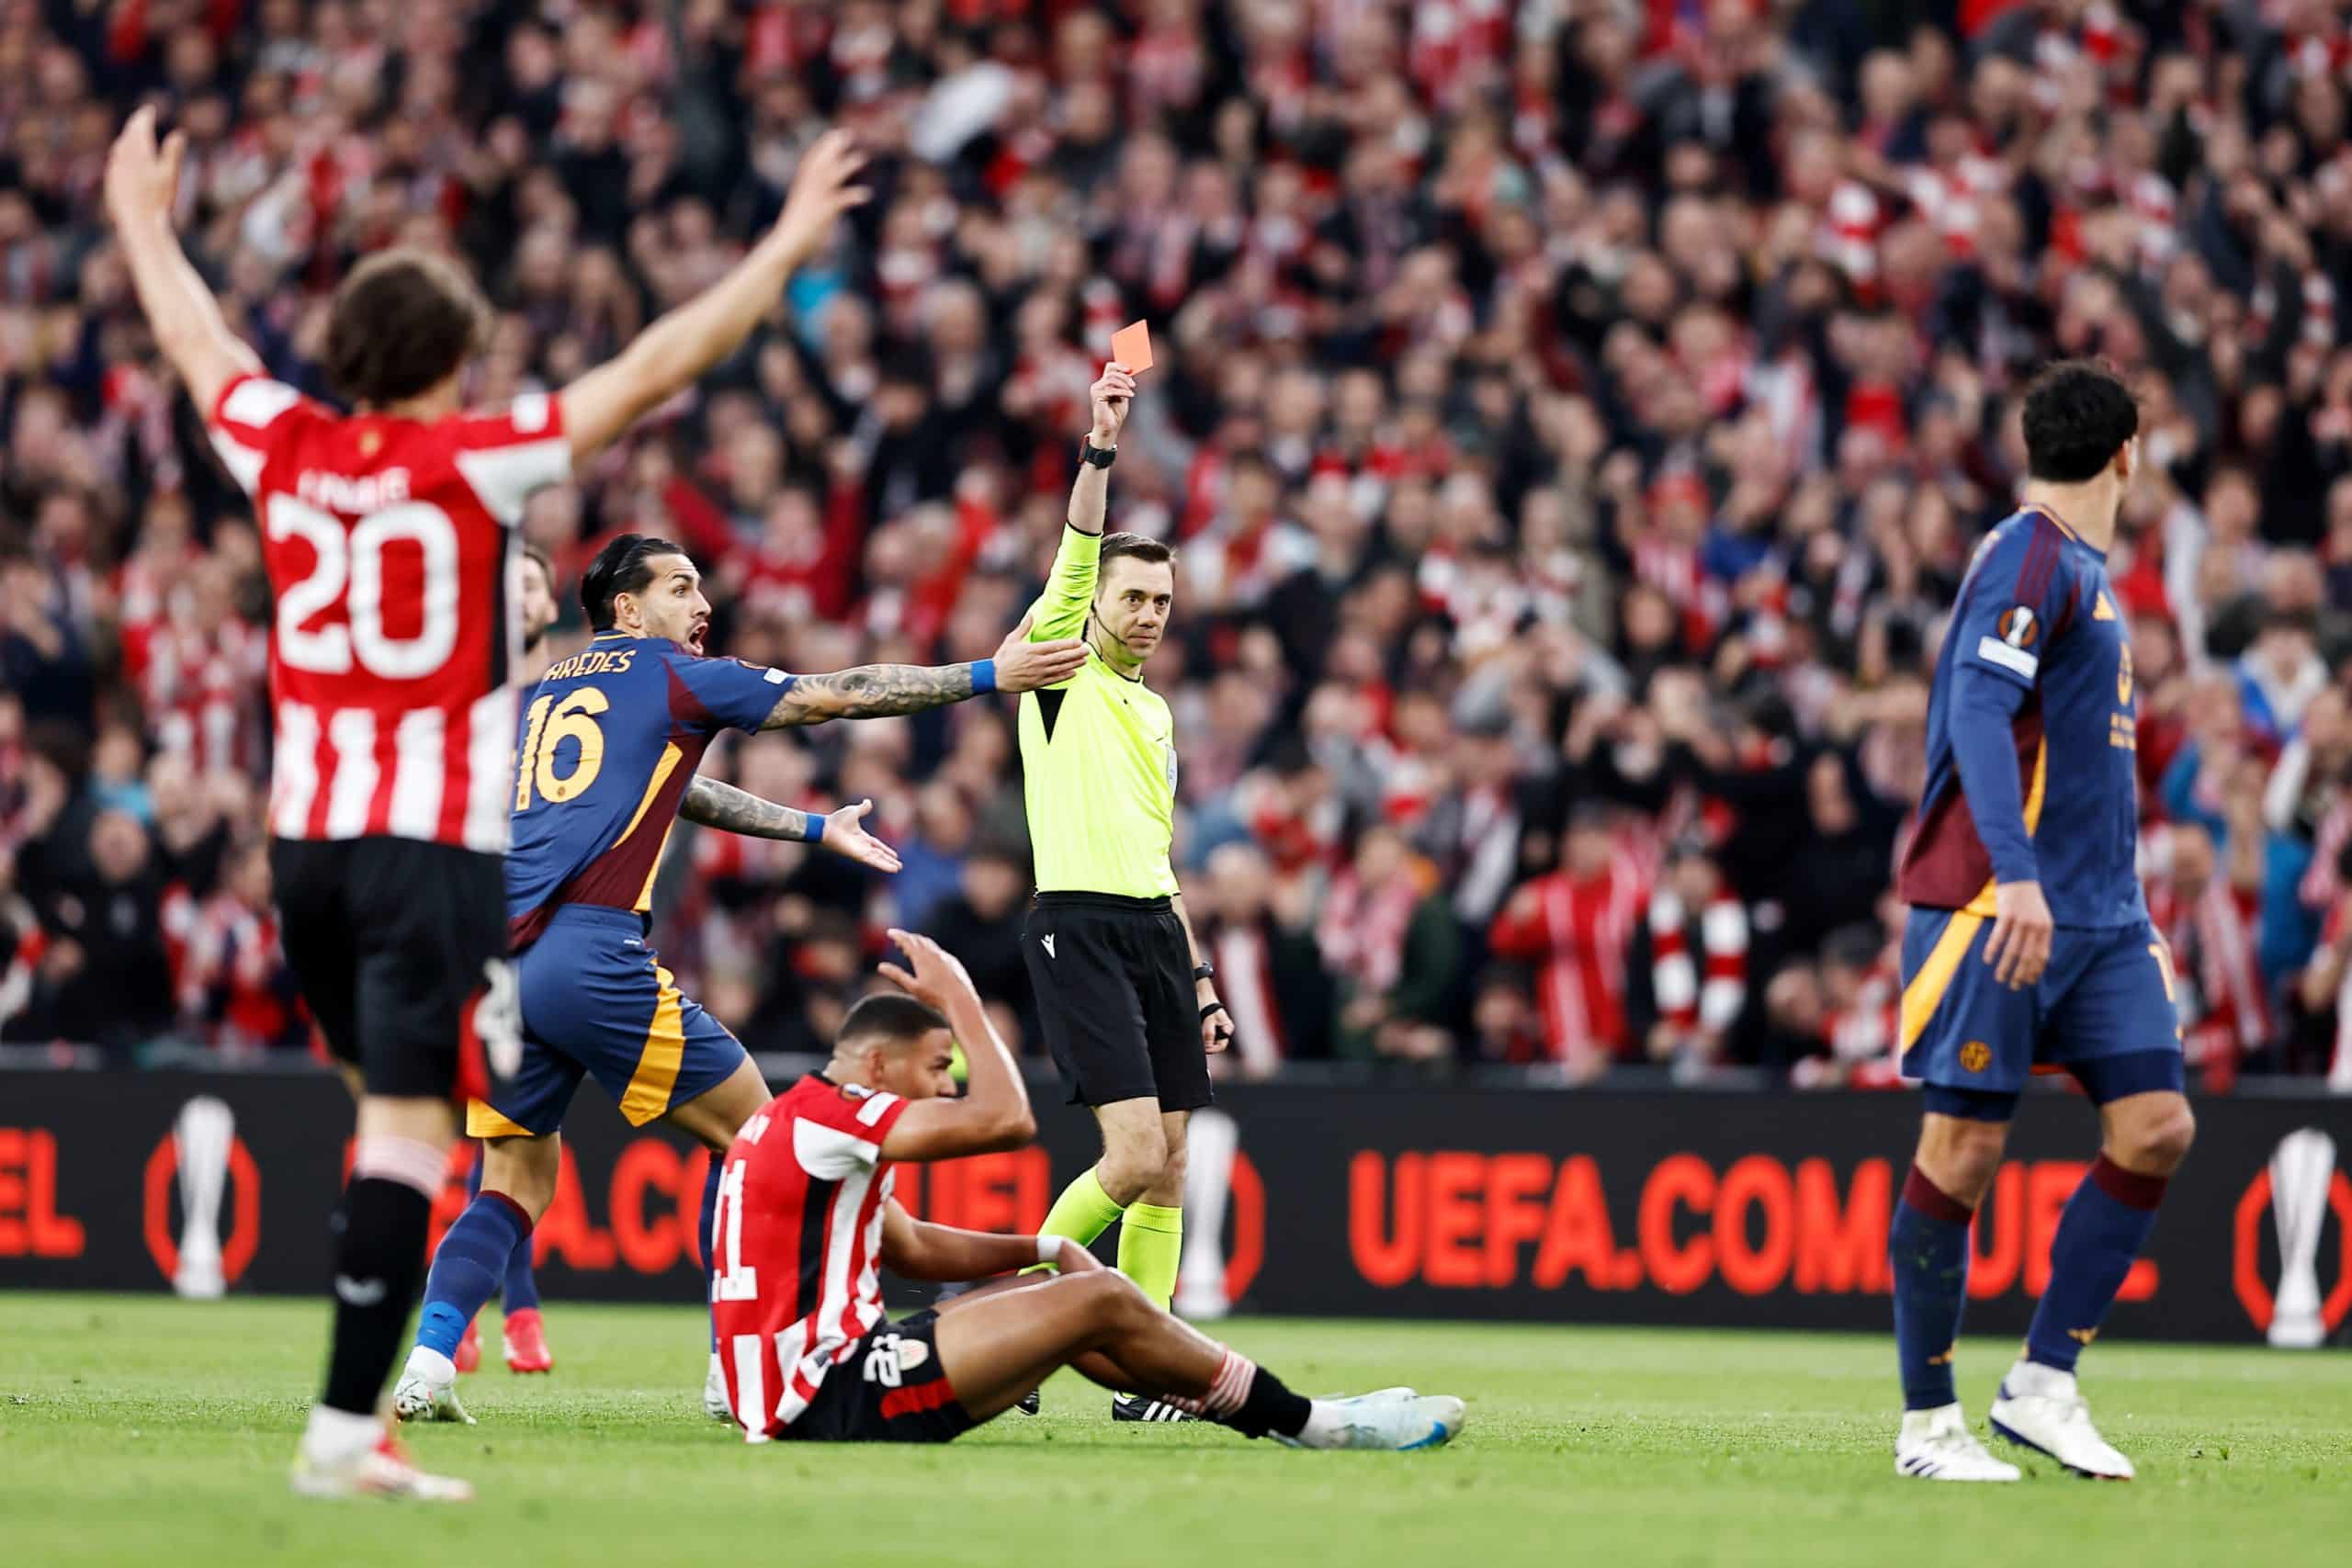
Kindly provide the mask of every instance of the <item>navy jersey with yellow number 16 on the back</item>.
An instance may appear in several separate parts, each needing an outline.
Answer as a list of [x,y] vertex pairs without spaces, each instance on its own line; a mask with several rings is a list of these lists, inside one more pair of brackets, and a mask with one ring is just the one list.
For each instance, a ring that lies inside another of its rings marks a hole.
[[520,952],[562,905],[644,912],[703,748],[760,729],[783,670],[703,658],[666,637],[597,637],[522,701],[506,922]]

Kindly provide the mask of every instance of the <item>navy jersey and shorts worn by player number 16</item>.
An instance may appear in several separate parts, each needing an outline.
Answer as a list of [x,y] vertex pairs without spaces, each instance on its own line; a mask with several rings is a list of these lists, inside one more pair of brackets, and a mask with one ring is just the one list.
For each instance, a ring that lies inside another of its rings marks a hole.
[[524,696],[506,856],[522,1072],[468,1107],[470,1135],[553,1133],[581,1077],[644,1126],[746,1060],[727,1025],[677,992],[647,910],[703,748],[722,729],[760,729],[790,684],[783,670],[600,632]]

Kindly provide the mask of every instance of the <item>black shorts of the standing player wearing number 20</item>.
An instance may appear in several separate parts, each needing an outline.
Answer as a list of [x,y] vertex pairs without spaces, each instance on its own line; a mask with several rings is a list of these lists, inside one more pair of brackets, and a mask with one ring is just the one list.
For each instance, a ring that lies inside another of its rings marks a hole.
[[419,839],[270,839],[280,940],[310,1018],[372,1095],[489,1098],[520,1013],[506,860]]

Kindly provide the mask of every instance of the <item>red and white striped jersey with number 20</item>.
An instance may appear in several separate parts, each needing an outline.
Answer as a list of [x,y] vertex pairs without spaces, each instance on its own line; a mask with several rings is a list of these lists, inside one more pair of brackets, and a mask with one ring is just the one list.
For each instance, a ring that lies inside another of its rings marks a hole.
[[524,498],[572,475],[562,404],[419,423],[238,376],[212,444],[278,599],[270,832],[506,849]]

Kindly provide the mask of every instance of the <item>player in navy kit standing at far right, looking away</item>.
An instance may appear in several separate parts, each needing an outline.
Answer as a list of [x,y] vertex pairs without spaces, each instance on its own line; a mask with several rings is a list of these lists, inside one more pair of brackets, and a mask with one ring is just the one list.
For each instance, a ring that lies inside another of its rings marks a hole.
[[[1978,545],[1936,656],[1926,790],[1903,856],[1903,1074],[1926,1119],[1896,1204],[1896,1472],[2016,1481],[1969,1434],[1952,1342],[1969,1220],[2002,1166],[2030,1072],[2098,1105],[2098,1161],[2051,1239],[2051,1276],[1992,1429],[2086,1476],[2131,1479],[2091,1425],[2074,1359],[2147,1244],[2197,1121],[2183,1098],[2173,966],[2133,851],[2131,642],[2107,543],[2140,465],[2140,414],[2110,371],[2053,364],[2025,393],[2025,505]],[[2044,893],[2046,891],[2046,893]]]

